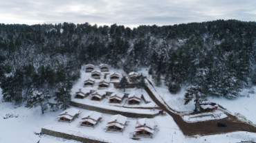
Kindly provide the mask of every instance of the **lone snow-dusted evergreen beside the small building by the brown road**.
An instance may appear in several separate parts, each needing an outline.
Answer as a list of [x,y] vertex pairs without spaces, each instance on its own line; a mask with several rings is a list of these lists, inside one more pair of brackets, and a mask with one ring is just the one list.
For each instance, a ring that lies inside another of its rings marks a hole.
[[195,102],[194,111],[197,111],[197,109],[199,108],[199,103],[207,100],[200,86],[192,86],[187,90],[187,92],[185,93],[184,104],[188,104],[192,99],[194,99]]

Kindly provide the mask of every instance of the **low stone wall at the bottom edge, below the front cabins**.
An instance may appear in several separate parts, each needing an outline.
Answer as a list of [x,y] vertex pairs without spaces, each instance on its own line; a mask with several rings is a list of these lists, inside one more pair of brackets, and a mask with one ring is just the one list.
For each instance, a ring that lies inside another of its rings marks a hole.
[[51,130],[44,129],[44,128],[42,128],[41,133],[46,134],[46,135],[53,135],[55,137],[62,137],[62,138],[68,139],[68,140],[77,140],[77,141],[84,142],[84,143],[108,143],[108,142],[104,142],[104,141],[100,141],[100,140],[89,139],[89,138],[86,138],[86,137],[70,135],[68,133],[61,133],[61,132],[57,132],[57,131],[51,131]]

